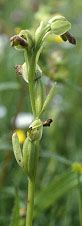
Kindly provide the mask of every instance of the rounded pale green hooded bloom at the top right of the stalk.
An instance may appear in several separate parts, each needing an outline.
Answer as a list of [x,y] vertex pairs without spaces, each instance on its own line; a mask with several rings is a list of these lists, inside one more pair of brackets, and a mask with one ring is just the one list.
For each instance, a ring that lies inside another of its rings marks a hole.
[[71,24],[69,21],[65,19],[65,17],[57,17],[51,23],[51,30],[55,35],[62,35],[67,32],[71,28]]

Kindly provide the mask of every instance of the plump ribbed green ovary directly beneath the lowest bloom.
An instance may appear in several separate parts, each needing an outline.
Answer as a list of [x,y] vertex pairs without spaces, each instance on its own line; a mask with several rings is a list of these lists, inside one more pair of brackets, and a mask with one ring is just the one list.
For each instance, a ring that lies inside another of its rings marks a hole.
[[34,143],[27,137],[23,144],[23,168],[28,177],[33,174],[34,150]]

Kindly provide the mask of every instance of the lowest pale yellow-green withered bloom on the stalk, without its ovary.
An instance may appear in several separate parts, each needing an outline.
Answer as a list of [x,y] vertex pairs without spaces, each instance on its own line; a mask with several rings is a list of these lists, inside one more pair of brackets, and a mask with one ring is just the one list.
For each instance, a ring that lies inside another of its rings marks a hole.
[[43,132],[42,121],[38,118],[34,119],[28,129],[27,136],[31,141],[40,140]]

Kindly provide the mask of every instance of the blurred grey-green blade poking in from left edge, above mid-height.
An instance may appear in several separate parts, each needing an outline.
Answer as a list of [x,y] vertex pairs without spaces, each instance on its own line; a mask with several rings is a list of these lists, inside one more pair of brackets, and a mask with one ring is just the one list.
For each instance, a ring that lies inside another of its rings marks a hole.
[[0,84],[0,91],[19,89],[20,85],[17,82],[3,82]]

